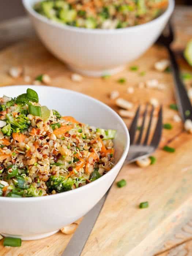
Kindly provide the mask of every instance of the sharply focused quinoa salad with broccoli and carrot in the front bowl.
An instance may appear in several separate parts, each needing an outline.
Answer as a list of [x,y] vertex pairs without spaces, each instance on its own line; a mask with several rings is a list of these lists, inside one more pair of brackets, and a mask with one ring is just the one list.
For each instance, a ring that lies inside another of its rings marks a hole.
[[52,195],[97,180],[114,166],[116,131],[61,117],[27,92],[0,98],[0,196]]

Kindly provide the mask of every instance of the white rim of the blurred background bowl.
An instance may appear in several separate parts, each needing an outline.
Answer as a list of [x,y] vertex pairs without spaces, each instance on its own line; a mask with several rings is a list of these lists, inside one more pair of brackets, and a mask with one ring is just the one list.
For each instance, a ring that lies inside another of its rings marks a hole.
[[31,0],[31,3],[27,3],[28,0],[22,0],[23,6],[25,7],[25,9],[27,10],[27,12],[29,12],[32,16],[34,16],[36,19],[40,20],[41,22],[44,22],[48,25],[52,25],[53,27],[58,27],[60,29],[63,30],[68,30],[68,31],[74,31],[74,32],[78,32],[78,33],[90,33],[90,34],[118,34],[118,33],[122,33],[125,31],[133,31],[134,29],[139,29],[141,27],[143,28],[147,28],[147,26],[151,25],[152,23],[154,23],[154,25],[158,22],[161,22],[166,16],[170,16],[170,14],[172,14],[173,10],[174,10],[174,5],[175,5],[175,1],[174,0],[168,0],[169,1],[169,5],[167,7],[167,9],[165,10],[165,12],[163,12],[163,14],[161,14],[159,17],[143,23],[141,25],[136,25],[136,26],[131,26],[131,27],[125,27],[122,29],[86,29],[83,27],[73,27],[73,26],[69,26],[69,25],[63,25],[60,24],[59,22],[54,22],[53,20],[50,20],[48,18],[46,18],[45,16],[38,14],[38,12],[36,12],[35,10],[33,10],[32,4],[34,4],[37,1],[42,1],[42,0]]

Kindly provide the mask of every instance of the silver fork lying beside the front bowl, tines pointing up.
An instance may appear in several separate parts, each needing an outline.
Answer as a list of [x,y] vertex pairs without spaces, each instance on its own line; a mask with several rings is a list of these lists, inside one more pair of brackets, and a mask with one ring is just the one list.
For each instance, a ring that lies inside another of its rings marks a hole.
[[[142,137],[143,137],[143,131],[144,126],[146,122],[146,116],[147,116],[147,110],[148,106],[146,106],[146,109],[143,114],[143,121],[140,128],[138,139],[135,141],[135,135],[138,127],[138,118],[140,113],[140,106],[138,107],[135,117],[132,121],[131,127],[129,129],[129,134],[131,138],[131,144],[129,148],[128,156],[125,160],[125,163],[133,162],[139,158],[147,157],[151,153],[155,151],[155,149],[158,147],[160,139],[161,139],[161,133],[162,133],[162,107],[159,110],[158,113],[158,120],[155,127],[155,131],[153,134],[153,138],[151,139],[151,142],[148,143],[149,135],[150,135],[150,129],[151,129],[151,123],[153,119],[153,113],[154,113],[154,107],[152,108],[150,112],[150,120],[147,126],[147,132],[144,136],[144,142],[142,143]],[[80,256],[83,247],[91,233],[91,230],[94,227],[95,222],[97,221],[97,218],[99,216],[99,213],[103,207],[103,204],[105,203],[105,200],[107,198],[107,195],[110,191],[110,188],[108,192],[102,197],[102,199],[91,209],[83,218],[83,221],[80,223],[78,229],[76,230],[75,234],[69,241],[67,247],[65,248],[65,251],[61,256]]]

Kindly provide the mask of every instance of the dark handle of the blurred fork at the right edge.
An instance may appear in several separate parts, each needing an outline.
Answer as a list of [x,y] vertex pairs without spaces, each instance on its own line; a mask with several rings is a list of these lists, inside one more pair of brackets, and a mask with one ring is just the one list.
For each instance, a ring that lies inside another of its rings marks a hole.
[[186,110],[191,110],[191,102],[188,97],[187,91],[185,90],[184,83],[182,82],[180,78],[180,69],[178,67],[176,57],[170,48],[170,46],[167,46],[167,50],[170,55],[170,61],[172,64],[172,72],[173,72],[173,78],[174,78],[174,88],[175,88],[175,94],[176,94],[176,101],[178,105],[179,112],[181,114],[181,117],[183,121],[185,121],[187,118],[192,118],[192,113],[190,113],[190,116],[186,117],[185,112]]

